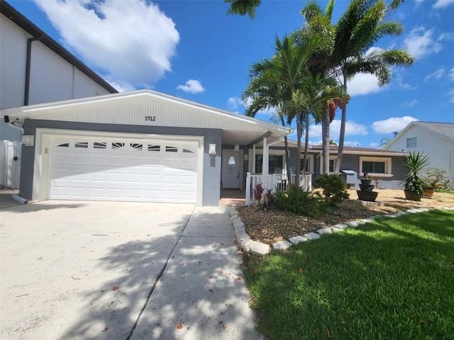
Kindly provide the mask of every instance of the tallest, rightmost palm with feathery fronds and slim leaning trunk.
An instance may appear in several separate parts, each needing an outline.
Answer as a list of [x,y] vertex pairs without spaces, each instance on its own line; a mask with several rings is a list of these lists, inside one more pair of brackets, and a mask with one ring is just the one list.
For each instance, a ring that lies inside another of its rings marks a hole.
[[[336,25],[336,38],[331,55],[331,72],[341,78],[347,93],[347,81],[355,74],[375,74],[378,85],[391,81],[392,66],[409,66],[414,59],[404,50],[373,50],[370,47],[385,35],[399,35],[403,27],[397,22],[384,22],[387,4],[382,0],[353,0]],[[360,34],[358,34],[360,33]],[[335,172],[341,171],[347,103],[342,105],[341,131]]]

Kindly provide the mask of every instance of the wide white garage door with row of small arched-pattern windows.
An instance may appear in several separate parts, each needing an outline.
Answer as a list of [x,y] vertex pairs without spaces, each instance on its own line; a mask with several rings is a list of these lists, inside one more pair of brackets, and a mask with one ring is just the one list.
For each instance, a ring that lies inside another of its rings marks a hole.
[[196,203],[198,143],[53,137],[49,198]]

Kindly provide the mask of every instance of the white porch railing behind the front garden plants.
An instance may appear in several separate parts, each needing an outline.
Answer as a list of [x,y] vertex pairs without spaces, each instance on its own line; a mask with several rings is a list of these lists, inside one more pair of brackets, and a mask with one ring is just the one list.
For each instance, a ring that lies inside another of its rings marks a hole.
[[[296,174],[290,175],[291,182],[287,181],[287,174],[269,174],[269,175],[253,175],[250,172],[246,173],[246,205],[254,200],[254,190],[258,183],[262,183],[262,188],[270,189],[272,193],[276,190],[287,190],[288,183],[294,183]],[[312,190],[312,176],[300,174],[300,186],[304,191]]]

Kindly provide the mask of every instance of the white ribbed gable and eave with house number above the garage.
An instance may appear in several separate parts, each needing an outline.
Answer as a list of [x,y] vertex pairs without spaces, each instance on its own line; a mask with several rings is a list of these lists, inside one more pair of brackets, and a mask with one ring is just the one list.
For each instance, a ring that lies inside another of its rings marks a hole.
[[250,145],[263,135],[270,140],[279,140],[293,132],[291,128],[264,120],[151,90],[6,108],[0,115],[2,118],[7,115],[9,120],[19,123],[35,119],[218,129],[222,130],[225,145]]

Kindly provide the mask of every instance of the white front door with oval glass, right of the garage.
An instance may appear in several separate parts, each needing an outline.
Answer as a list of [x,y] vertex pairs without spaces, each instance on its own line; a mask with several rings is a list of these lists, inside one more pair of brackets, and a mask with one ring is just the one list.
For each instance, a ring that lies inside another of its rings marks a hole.
[[243,179],[243,151],[222,150],[222,187],[241,189]]

